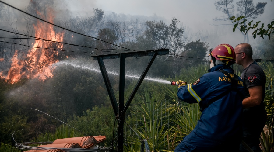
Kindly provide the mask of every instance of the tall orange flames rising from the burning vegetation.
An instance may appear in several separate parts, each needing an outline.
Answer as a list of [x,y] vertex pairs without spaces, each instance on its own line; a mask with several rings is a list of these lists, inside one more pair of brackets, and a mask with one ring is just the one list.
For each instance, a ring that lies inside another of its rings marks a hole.
[[[45,16],[41,15],[39,12],[37,13],[42,16],[43,19],[53,22],[54,16],[52,12],[54,12],[52,9],[47,10],[47,19],[45,19]],[[64,33],[55,32],[53,25],[37,20],[37,23],[33,26],[35,37],[58,42],[63,41]],[[11,68],[9,69],[6,79],[11,81],[11,83],[14,83],[19,81],[22,77],[39,78],[39,80],[53,77],[52,71],[54,68],[52,67],[52,64],[59,61],[58,51],[42,48],[61,50],[63,45],[55,42],[35,40],[33,48],[28,51],[27,56],[23,60],[18,59],[18,51],[16,51],[11,59]],[[23,69],[25,70],[23,71]]]

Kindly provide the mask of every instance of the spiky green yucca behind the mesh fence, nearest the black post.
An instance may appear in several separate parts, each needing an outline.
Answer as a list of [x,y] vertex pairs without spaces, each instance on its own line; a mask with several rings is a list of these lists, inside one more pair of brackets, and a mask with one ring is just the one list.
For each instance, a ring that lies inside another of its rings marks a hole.
[[[154,152],[167,149],[168,143],[166,142],[166,137],[172,129],[168,126],[169,114],[167,114],[167,112],[172,111],[172,109],[167,110],[170,108],[168,103],[162,103],[158,101],[158,99],[158,94],[154,92],[150,96],[147,90],[145,91],[145,100],[138,98],[139,103],[143,104],[136,105],[136,111],[132,111],[132,117],[128,120],[131,121],[132,124],[136,122],[136,126],[134,126],[133,129],[138,136],[133,135],[127,137],[126,144],[129,146],[124,146],[124,151],[138,151],[141,147],[139,137],[141,137],[141,139],[149,139],[147,140],[149,149]],[[128,123],[130,124],[130,122]]]

